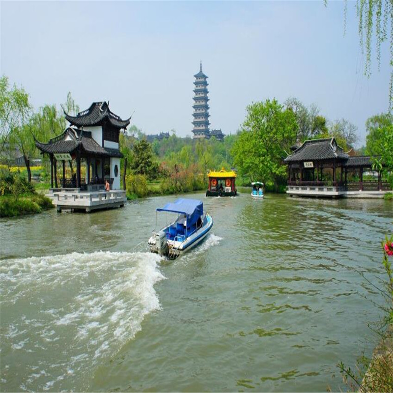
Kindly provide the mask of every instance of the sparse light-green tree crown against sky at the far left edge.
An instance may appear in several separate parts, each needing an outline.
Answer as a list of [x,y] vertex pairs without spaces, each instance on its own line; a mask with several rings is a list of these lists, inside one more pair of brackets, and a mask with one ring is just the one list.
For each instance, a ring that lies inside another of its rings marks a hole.
[[0,153],[3,151],[9,135],[17,127],[22,127],[28,120],[31,106],[28,93],[15,84],[9,88],[8,78],[0,78]]

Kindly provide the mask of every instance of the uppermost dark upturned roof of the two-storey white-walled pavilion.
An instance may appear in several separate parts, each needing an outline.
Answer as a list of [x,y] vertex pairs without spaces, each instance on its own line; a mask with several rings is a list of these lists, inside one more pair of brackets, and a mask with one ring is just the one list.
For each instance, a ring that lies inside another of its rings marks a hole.
[[130,116],[128,119],[122,120],[109,109],[109,103],[106,101],[93,102],[90,108],[83,112],[79,112],[76,116],[71,116],[65,111],[64,114],[70,124],[77,127],[97,126],[102,125],[104,122],[109,122],[116,128],[125,129],[130,124],[131,119]]

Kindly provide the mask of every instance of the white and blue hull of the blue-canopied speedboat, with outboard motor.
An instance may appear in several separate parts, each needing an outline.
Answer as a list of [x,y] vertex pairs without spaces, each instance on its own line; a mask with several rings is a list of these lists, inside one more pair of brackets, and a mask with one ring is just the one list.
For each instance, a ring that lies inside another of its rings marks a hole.
[[[213,219],[212,217],[206,213],[205,218],[203,220],[203,225],[189,237],[187,237],[184,241],[176,241],[176,240],[169,240],[166,241],[165,251],[163,255],[168,256],[170,259],[175,259],[178,256],[187,253],[194,247],[196,247],[202,240],[208,235],[210,229],[213,226]],[[155,236],[150,237],[148,241],[148,246],[150,247],[150,252],[152,253],[159,253],[160,250],[156,246],[156,238]]]

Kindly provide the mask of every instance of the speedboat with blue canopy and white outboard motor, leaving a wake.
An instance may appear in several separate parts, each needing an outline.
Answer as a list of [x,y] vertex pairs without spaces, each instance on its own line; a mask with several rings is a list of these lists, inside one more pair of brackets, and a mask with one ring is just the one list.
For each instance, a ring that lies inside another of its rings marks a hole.
[[148,241],[152,253],[166,255],[175,259],[197,246],[213,226],[213,219],[208,213],[203,213],[203,203],[197,199],[179,198],[169,202],[164,207],[156,209],[157,213],[177,213],[176,220],[160,230],[154,230]]

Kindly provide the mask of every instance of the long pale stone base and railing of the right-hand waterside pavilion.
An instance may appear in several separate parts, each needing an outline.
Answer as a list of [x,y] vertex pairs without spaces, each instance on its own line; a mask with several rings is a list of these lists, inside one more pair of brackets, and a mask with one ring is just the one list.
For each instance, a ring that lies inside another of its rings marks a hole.
[[286,193],[299,197],[383,198],[392,192],[387,181],[288,181]]

